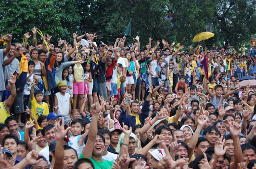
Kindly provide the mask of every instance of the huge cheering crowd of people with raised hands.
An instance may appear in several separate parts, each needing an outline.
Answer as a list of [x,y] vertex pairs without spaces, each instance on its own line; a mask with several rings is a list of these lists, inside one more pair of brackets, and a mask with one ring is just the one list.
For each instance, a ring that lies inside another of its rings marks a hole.
[[256,168],[253,39],[242,54],[32,35],[0,38],[0,168]]

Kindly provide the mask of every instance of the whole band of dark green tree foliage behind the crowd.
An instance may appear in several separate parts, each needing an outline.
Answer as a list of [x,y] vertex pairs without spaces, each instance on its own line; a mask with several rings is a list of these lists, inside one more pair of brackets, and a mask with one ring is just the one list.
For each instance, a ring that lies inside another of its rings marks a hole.
[[[143,46],[150,36],[154,42],[165,39],[190,45],[196,34],[209,27],[215,37],[207,40],[207,45],[228,40],[240,47],[256,26],[254,0],[7,0],[2,4],[0,31],[11,32],[19,41],[35,25],[53,35],[54,41],[86,31],[95,32],[98,42],[113,43],[132,19],[132,37],[139,35]],[[173,13],[174,28],[163,22],[168,10]],[[126,41],[133,43],[132,37]]]

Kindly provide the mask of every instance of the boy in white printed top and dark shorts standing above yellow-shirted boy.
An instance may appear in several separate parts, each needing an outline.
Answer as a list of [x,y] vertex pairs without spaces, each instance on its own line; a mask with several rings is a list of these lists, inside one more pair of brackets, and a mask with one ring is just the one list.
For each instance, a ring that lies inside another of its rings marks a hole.
[[35,84],[37,85],[37,82],[38,82],[38,78],[33,74],[34,69],[35,69],[35,63],[33,61],[29,61],[27,80],[26,80],[26,85],[24,87],[24,107],[26,107],[29,103],[31,83],[35,81]]

